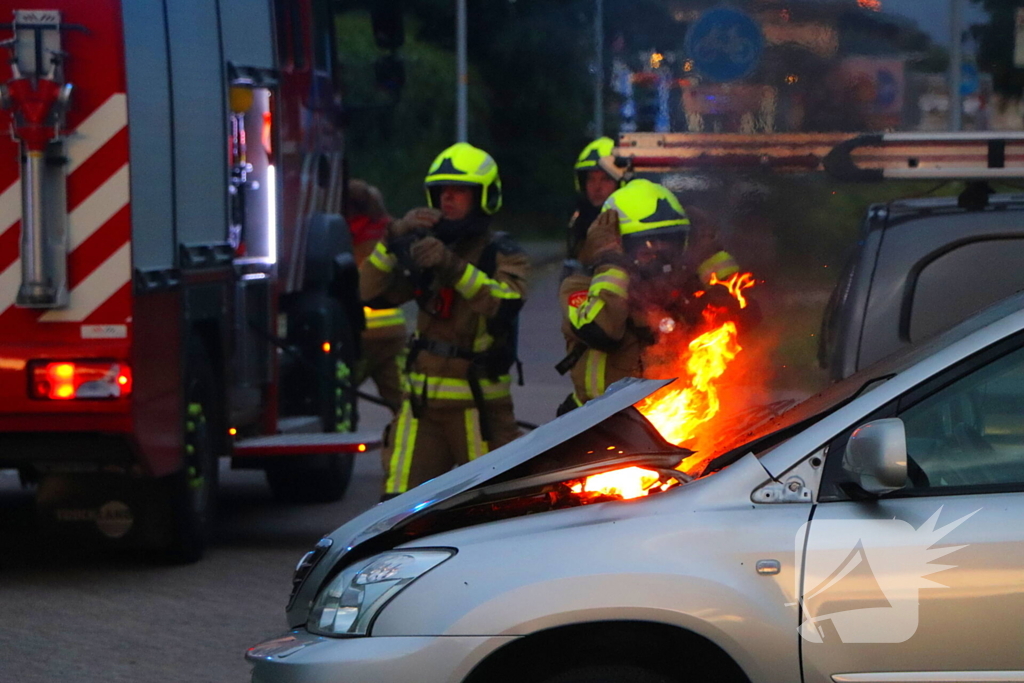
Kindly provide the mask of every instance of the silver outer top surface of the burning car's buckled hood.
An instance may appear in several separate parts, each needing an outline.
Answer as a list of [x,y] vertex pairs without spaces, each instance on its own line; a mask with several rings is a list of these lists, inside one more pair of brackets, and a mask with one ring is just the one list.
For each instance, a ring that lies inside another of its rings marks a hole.
[[[422,512],[453,496],[483,484],[517,465],[541,456],[555,446],[582,434],[654,393],[673,380],[642,380],[629,378],[615,382],[604,395],[582,408],[563,415],[530,433],[481,458],[431,479],[401,496],[367,510],[330,535],[331,551],[306,580],[303,592],[314,590],[324,574],[346,552],[370,539],[397,526],[410,515]],[[289,624],[304,624],[304,605],[312,596],[300,593],[289,610]]]

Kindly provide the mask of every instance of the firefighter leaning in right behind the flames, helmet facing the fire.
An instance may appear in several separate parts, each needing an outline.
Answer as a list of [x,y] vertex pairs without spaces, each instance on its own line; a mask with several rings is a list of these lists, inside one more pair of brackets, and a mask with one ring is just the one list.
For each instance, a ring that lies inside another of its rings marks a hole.
[[[559,415],[624,377],[644,377],[644,351],[657,335],[674,332],[677,319],[698,325],[711,283],[738,272],[709,221],[702,222],[702,229],[691,230],[679,200],[649,180],[632,180],[605,202],[580,250],[585,270],[563,280],[559,290],[569,353],[558,371],[571,371],[573,386]],[[731,298],[725,288],[712,289]],[[671,330],[652,323],[654,307],[672,311]]]

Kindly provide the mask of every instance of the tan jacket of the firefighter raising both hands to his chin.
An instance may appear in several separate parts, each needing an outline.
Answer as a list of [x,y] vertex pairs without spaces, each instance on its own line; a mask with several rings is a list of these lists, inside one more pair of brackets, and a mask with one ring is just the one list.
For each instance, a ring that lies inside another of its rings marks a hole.
[[378,242],[359,268],[362,301],[372,308],[419,303],[408,366],[415,399],[453,408],[508,400],[515,330],[502,324],[514,322],[522,307],[529,259],[511,239],[490,231],[450,248],[461,259],[459,272],[423,280],[406,271],[386,240]]

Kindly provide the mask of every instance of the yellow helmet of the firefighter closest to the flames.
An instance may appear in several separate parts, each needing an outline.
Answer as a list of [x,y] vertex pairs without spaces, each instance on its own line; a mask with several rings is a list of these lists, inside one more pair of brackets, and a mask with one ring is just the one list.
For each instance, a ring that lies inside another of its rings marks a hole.
[[616,189],[601,207],[601,212],[618,213],[618,233],[623,238],[681,237],[690,231],[686,210],[671,190],[643,178],[630,180]]

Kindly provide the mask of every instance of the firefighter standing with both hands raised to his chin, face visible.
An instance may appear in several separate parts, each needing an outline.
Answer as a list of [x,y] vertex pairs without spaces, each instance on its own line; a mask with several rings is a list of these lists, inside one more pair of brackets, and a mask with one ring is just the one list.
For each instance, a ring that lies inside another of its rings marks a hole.
[[466,142],[426,177],[427,207],[393,221],[360,268],[367,305],[415,299],[407,387],[385,438],[383,499],[404,493],[519,434],[510,369],[529,260],[493,233],[498,166]]

